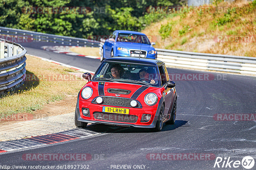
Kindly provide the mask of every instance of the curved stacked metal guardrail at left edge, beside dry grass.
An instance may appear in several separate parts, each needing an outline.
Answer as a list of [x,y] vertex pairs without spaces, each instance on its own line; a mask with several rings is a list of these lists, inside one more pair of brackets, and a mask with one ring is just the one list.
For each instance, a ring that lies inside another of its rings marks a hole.
[[25,80],[26,53],[21,45],[0,39],[0,93],[18,87]]

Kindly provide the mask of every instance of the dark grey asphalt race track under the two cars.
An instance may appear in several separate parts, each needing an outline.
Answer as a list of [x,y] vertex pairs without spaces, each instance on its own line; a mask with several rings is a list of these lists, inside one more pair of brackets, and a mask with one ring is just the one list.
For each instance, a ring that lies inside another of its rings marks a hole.
[[[52,45],[50,43],[22,45],[27,49],[28,54],[91,71],[96,71],[100,64],[98,59],[68,56],[40,49],[40,46]],[[124,127],[118,131],[110,131],[90,138],[7,152],[0,155],[0,165],[50,165],[55,167],[58,165],[66,165],[66,167],[68,165],[89,165],[89,169],[116,169],[114,165],[116,167],[117,165],[131,165],[131,169],[138,169],[138,166],[134,165],[144,165],[144,169],[152,170],[223,169],[213,168],[216,158],[188,160],[182,157],[183,160],[159,160],[159,157],[154,157],[158,160],[149,160],[154,159],[152,155],[151,158],[147,156],[150,153],[155,155],[157,153],[180,153],[182,155],[210,153],[223,159],[230,157],[233,162],[242,161],[245,156],[252,156],[256,161],[256,121],[216,121],[213,118],[214,114],[255,114],[256,78],[174,68],[168,68],[168,72],[175,75],[202,73],[214,75],[212,80],[175,81],[178,105],[174,125],[164,125],[161,132]],[[96,124],[91,128],[104,129],[104,126]],[[86,161],[23,160],[22,155],[27,153],[89,153],[92,159]],[[97,156],[100,154],[101,159]],[[223,161],[220,166],[222,163]],[[240,165],[238,168],[225,169],[244,168]],[[252,169],[256,169],[256,165]]]

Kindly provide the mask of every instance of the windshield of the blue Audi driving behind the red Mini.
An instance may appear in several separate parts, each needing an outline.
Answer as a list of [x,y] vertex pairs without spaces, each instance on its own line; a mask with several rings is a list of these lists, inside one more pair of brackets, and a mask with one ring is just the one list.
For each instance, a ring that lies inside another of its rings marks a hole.
[[119,33],[117,36],[117,42],[133,42],[150,45],[150,41],[146,35]]

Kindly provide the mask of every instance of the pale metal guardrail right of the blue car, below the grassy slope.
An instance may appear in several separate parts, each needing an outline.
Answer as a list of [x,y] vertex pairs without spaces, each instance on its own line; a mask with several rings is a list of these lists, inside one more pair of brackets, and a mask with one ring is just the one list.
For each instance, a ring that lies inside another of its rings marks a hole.
[[184,52],[156,48],[157,59],[167,66],[256,74],[256,57]]

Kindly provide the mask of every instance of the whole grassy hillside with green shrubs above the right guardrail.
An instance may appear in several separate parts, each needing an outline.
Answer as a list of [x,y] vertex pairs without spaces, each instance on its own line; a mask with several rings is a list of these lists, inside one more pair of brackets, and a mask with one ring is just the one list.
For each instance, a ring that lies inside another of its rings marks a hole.
[[223,11],[184,12],[141,32],[165,39],[156,48],[256,57],[256,0],[216,2],[204,7]]

